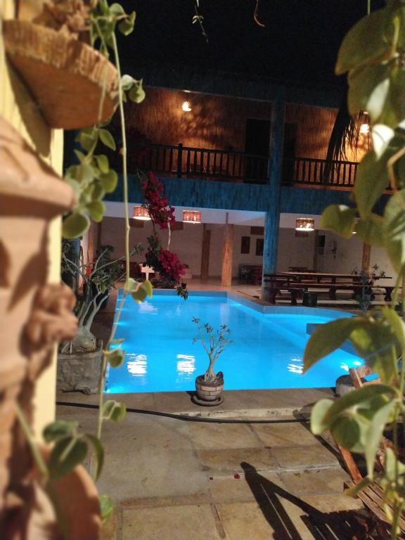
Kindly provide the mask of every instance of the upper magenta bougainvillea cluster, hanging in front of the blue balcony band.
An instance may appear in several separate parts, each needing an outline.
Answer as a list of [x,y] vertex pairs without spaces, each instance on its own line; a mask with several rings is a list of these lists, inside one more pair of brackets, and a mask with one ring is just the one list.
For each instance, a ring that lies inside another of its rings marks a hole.
[[174,207],[169,206],[163,184],[156,178],[153,172],[150,172],[143,179],[142,191],[150,219],[153,220],[153,223],[158,225],[160,229],[167,229],[169,225],[174,225],[176,223]]

